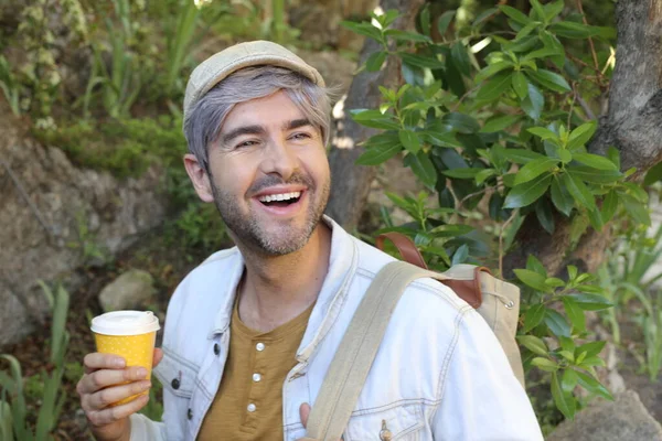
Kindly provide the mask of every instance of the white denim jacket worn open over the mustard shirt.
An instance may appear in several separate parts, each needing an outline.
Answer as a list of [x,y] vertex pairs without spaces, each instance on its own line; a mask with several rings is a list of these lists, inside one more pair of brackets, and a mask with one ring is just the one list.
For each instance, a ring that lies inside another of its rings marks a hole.
[[[306,433],[299,406],[312,404],[340,341],[376,272],[393,258],[329,217],[329,272],[282,384],[284,440]],[[194,440],[223,374],[229,319],[244,271],[236,248],[218,251],[178,287],[168,306],[163,352],[164,422],[131,417],[131,440]],[[248,405],[248,404],[247,404]],[[259,412],[259,407],[255,409]],[[482,318],[449,288],[421,279],[403,294],[344,441],[543,440],[522,386]]]

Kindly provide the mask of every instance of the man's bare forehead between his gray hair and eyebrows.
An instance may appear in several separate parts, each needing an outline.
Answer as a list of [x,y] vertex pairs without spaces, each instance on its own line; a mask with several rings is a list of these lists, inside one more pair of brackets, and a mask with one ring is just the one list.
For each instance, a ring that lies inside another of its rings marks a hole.
[[282,122],[306,118],[303,111],[287,93],[279,90],[264,98],[237,104],[223,123],[222,131],[246,125],[278,126]]

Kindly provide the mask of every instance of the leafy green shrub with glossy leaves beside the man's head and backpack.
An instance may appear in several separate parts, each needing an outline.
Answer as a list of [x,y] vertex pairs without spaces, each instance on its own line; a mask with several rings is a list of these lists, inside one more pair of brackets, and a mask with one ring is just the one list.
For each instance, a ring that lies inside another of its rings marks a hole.
[[[531,0],[528,15],[499,6],[452,28],[455,11],[447,11],[436,21],[437,40],[427,7],[419,13],[420,32],[392,29],[397,11],[373,14],[371,23],[343,23],[382,46],[362,68],[380,71],[389,56],[402,62],[405,84],[381,87],[378,108],[350,110],[355,121],[381,130],[364,143],[357,163],[378,165],[399,157],[436,193],[433,208],[425,207],[425,195],[391,195],[413,222],[394,226],[384,217],[386,229],[409,234],[440,269],[491,259],[503,273],[503,257],[516,246],[525,218],[549,234],[566,218],[574,244],[617,213],[650,225],[648,194],[628,182],[634,170],[620,172],[616,149],[607,157],[587,151],[597,122],[577,105],[581,94],[599,90],[613,67],[600,55],[605,67],[595,77],[594,69],[581,67],[586,54],[578,49],[591,39],[609,53],[613,30],[574,21],[581,18],[564,10],[562,0]],[[508,28],[485,32],[488,19]],[[479,206],[481,201],[485,205]],[[481,223],[471,222],[476,211],[485,217]],[[526,370],[542,372],[566,418],[580,406],[577,386],[611,398],[595,372],[604,365],[605,342],[591,342],[586,329],[586,311],[612,306],[596,278],[567,266],[562,279],[533,256],[514,273],[523,289],[517,338]]]

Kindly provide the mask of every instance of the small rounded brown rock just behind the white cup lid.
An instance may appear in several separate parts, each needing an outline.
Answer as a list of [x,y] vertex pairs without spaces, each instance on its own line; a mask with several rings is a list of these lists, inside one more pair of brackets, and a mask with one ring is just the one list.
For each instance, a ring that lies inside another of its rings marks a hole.
[[99,294],[104,311],[137,309],[154,294],[154,279],[147,271],[131,269],[108,283]]

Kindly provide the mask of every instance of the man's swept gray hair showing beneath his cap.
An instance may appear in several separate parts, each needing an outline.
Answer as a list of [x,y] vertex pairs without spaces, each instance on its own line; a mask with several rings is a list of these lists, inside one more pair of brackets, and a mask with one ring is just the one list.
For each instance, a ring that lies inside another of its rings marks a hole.
[[193,107],[184,121],[189,151],[209,172],[207,147],[221,135],[221,127],[237,104],[284,90],[329,142],[331,93],[301,74],[270,65],[245,67],[223,79]]

